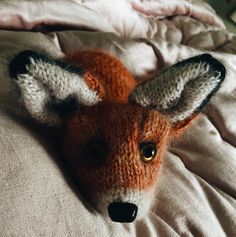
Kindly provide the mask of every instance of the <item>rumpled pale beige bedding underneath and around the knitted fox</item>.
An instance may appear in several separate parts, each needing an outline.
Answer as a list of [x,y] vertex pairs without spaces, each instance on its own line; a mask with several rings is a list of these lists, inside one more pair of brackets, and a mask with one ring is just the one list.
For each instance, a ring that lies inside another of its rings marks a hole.
[[[236,36],[194,0],[0,1],[1,236],[235,236]],[[150,214],[111,223],[74,190],[56,136],[20,116],[7,65],[24,49],[54,57],[100,48],[137,80],[211,53],[226,80],[205,113],[171,145]],[[155,53],[156,52],[156,53]]]

